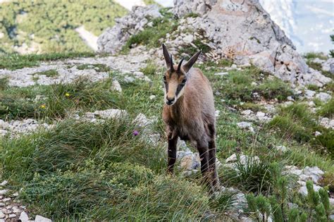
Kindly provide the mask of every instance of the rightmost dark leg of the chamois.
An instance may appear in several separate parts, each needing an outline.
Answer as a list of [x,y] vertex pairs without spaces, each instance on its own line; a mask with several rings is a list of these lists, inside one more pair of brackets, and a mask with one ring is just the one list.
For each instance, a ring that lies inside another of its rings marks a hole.
[[216,130],[213,124],[208,125],[209,128],[209,171],[211,176],[211,184],[215,191],[219,190],[220,183],[216,169]]

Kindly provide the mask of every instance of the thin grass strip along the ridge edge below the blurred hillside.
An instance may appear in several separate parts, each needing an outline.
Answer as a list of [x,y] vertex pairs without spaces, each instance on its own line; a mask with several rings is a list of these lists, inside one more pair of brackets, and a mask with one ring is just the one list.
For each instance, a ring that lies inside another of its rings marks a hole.
[[38,66],[43,61],[56,61],[65,58],[76,57],[92,57],[95,56],[92,52],[67,52],[67,53],[52,53],[52,54],[6,54],[0,55],[0,69],[16,70],[19,68]]

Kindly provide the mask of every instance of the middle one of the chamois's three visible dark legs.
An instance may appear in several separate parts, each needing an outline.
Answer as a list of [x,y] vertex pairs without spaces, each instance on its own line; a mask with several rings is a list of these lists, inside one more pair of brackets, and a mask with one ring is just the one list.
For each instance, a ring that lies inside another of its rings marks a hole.
[[197,150],[199,152],[199,159],[201,160],[201,172],[204,178],[204,183],[206,183],[206,186],[209,188],[209,192],[212,192],[209,178],[208,143],[206,141],[197,140]]

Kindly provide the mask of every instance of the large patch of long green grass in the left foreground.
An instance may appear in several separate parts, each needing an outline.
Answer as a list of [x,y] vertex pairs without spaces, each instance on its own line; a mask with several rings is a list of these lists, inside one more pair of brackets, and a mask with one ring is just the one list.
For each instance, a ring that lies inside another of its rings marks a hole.
[[[2,140],[2,176],[24,185],[20,197],[30,210],[54,220],[202,218],[210,210],[203,188],[166,176],[162,147],[132,135],[133,128],[126,118],[68,120],[46,132]],[[215,206],[223,211],[230,199]]]

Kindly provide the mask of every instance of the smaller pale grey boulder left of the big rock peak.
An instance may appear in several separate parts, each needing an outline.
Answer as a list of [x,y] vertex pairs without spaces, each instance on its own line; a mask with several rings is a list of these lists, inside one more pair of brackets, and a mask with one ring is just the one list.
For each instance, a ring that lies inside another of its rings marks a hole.
[[147,18],[159,18],[159,7],[151,5],[147,7],[134,6],[132,13],[123,18],[116,19],[116,25],[108,28],[97,39],[99,51],[116,54],[123,47],[125,42],[144,29],[148,25]]

